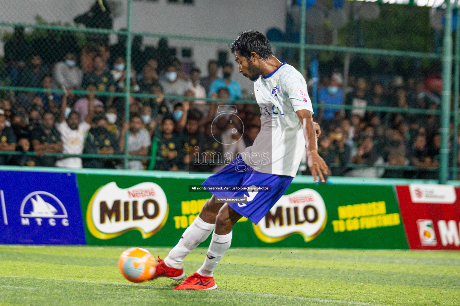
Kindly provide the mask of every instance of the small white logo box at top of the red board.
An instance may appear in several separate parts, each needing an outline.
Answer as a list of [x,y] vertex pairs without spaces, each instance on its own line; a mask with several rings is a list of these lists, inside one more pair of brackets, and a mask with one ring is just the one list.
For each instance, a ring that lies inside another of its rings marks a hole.
[[413,203],[454,204],[457,200],[452,185],[409,184]]

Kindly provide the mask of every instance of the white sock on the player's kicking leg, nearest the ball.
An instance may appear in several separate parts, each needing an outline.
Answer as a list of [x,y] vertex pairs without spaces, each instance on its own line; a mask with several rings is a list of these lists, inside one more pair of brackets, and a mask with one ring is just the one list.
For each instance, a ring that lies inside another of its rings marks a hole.
[[165,258],[166,265],[169,267],[181,267],[185,256],[189,255],[193,249],[206,240],[215,227],[215,224],[204,222],[200,216],[196,217],[195,221],[185,229],[178,244],[169,251],[168,256]]

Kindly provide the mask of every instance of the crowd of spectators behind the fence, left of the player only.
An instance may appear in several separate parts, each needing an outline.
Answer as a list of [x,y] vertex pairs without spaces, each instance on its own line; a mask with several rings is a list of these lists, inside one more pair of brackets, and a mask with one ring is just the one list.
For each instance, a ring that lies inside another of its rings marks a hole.
[[[232,78],[234,65],[210,60],[207,76],[202,76],[196,67],[184,69],[166,39],[160,39],[157,48],[141,50],[139,38],[133,39],[130,91],[157,97],[132,97],[125,120],[125,97],[116,95],[126,91],[124,35],[115,45],[97,40],[79,50],[27,40],[23,28],[15,28],[5,44],[2,79],[11,86],[40,90],[8,91],[0,100],[0,151],[19,152],[0,155],[0,165],[117,168],[123,167],[123,160],[109,156],[120,155],[126,148],[129,155],[138,156],[129,161],[130,169],[180,171],[189,169],[191,162],[205,161],[202,154],[213,156],[228,149],[216,140],[228,124],[216,121],[211,131],[217,108],[223,104],[210,105],[200,99],[240,99],[240,85]],[[49,47],[48,53],[53,53],[56,48],[52,46],[66,51],[51,60],[43,58],[42,48]],[[52,89],[65,89],[65,94]],[[78,90],[88,94],[78,95]],[[169,95],[184,98],[165,99]],[[251,105],[238,104],[237,108],[241,117],[245,117],[242,112],[251,120],[256,117]],[[260,120],[255,122],[259,128]],[[244,123],[253,128],[253,122]],[[243,127],[237,128],[242,131]],[[245,139],[247,145],[252,143],[250,137],[245,135]],[[27,154],[29,151],[36,154]],[[77,155],[82,153],[89,156],[81,159]],[[96,154],[109,156],[101,159]],[[196,171],[215,167],[200,165]]]

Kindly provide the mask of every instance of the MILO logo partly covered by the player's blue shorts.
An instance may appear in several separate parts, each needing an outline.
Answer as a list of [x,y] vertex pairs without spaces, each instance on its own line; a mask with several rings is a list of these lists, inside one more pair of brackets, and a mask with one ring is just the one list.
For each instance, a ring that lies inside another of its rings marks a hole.
[[283,195],[253,228],[257,237],[267,243],[281,241],[292,234],[300,234],[308,242],[321,234],[327,219],[321,195],[305,188]]

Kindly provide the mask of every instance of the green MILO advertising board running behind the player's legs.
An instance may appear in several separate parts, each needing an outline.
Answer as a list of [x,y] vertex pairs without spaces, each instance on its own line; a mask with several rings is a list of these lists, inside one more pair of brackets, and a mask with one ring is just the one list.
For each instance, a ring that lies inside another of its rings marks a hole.
[[[201,177],[201,176],[200,176]],[[88,245],[174,246],[211,197],[204,178],[77,174]],[[209,245],[208,238],[202,246]],[[408,249],[391,186],[293,183],[232,247]]]

